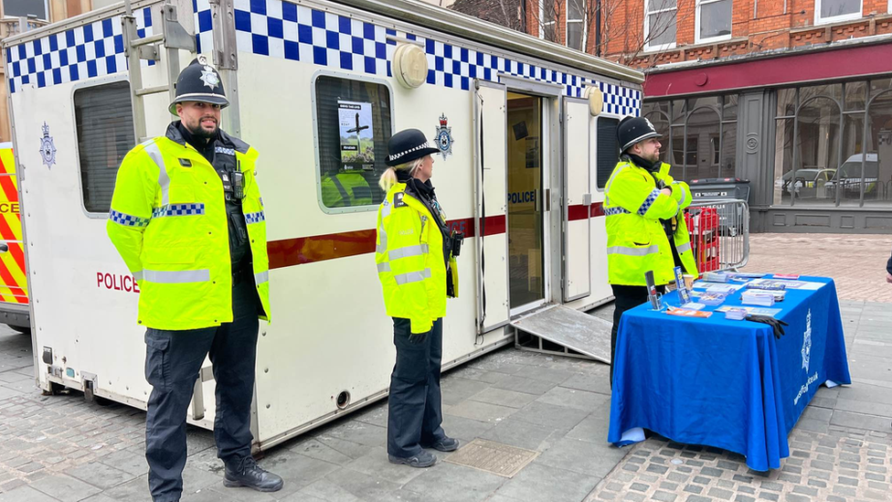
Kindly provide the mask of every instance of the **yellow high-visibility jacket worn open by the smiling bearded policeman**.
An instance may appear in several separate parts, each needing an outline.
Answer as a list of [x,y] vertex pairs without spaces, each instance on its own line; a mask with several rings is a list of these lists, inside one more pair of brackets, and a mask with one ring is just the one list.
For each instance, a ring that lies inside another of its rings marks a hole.
[[[172,125],[173,126],[173,125]],[[220,132],[220,134],[225,134]],[[196,149],[168,129],[138,144],[118,169],[109,238],[140,287],[139,324],[184,330],[232,322],[232,265],[223,182]],[[237,165],[244,173],[245,215],[254,282],[270,318],[266,217],[254,178],[257,150],[237,138]]]

